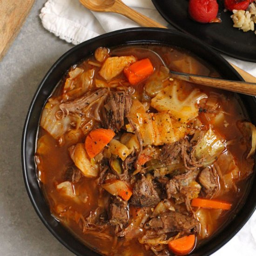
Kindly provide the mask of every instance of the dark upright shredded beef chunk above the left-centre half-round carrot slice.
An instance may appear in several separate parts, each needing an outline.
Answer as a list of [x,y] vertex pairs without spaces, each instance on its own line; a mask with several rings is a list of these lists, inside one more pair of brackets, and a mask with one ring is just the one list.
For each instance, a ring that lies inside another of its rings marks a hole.
[[124,118],[132,106],[131,95],[126,92],[110,92],[104,108],[102,108],[102,126],[119,131],[124,125]]

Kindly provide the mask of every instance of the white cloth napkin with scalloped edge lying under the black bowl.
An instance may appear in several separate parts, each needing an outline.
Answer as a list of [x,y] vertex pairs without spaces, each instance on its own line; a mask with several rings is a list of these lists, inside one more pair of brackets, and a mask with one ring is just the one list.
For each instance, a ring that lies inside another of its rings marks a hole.
[[[129,7],[153,18],[164,26],[171,27],[157,12],[151,0],[123,0]],[[127,27],[139,27],[134,21],[115,13],[91,12],[79,0],[48,0],[40,13],[43,26],[67,42],[79,44],[106,32]],[[256,76],[256,63],[224,58]],[[214,256],[256,255],[256,213],[249,222],[219,249]]]

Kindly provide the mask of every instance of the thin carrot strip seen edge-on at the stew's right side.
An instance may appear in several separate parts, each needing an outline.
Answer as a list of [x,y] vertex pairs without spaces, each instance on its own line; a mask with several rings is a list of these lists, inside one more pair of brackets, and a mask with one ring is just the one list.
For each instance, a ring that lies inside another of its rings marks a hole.
[[219,201],[219,200],[194,198],[194,199],[192,199],[191,206],[208,208],[208,209],[230,210],[232,204],[229,202],[224,202],[224,201]]

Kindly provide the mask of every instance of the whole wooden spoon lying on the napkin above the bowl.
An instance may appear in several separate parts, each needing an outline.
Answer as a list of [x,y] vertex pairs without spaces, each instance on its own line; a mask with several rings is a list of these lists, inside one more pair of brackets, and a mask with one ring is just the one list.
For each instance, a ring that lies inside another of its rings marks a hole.
[[134,20],[143,27],[164,27],[155,20],[136,12],[125,5],[121,0],[80,0],[81,4],[94,12],[119,13],[127,18]]

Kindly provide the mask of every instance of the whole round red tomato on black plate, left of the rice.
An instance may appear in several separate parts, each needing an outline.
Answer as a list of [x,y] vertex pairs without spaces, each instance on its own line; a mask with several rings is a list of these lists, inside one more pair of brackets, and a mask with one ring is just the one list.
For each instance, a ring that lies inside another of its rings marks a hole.
[[215,20],[218,9],[216,0],[189,0],[189,14],[198,22],[208,23]]

